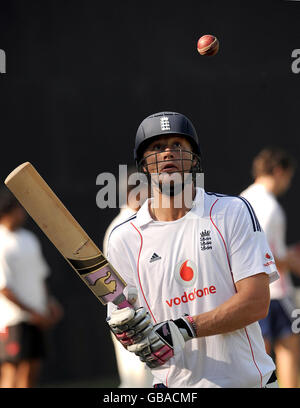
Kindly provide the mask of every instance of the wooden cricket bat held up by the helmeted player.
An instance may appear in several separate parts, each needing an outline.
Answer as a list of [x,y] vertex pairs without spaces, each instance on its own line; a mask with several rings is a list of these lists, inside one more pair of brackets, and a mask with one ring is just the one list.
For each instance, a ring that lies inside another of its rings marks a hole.
[[5,184],[103,305],[132,307],[123,294],[126,282],[31,163],[13,170]]

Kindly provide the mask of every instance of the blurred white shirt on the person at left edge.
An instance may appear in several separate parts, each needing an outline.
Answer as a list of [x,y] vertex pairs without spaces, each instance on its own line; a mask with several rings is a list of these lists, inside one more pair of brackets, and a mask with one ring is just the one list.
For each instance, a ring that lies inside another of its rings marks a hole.
[[[45,313],[44,281],[48,273],[49,267],[34,234],[23,228],[9,231],[0,225],[0,289],[8,287],[21,303]],[[0,293],[0,327],[27,319],[27,312]]]

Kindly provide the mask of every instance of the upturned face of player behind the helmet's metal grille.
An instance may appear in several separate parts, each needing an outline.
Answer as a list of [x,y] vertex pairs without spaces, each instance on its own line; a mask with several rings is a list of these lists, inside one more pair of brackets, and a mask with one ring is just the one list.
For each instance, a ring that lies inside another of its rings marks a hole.
[[193,165],[190,142],[182,136],[161,136],[144,151],[144,170],[148,173],[188,173]]

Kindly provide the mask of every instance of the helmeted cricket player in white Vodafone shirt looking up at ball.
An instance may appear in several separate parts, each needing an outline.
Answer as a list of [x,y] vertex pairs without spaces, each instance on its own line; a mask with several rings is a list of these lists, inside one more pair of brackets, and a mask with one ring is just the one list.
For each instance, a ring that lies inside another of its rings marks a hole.
[[110,305],[111,330],[156,388],[276,387],[258,320],[278,272],[252,207],[196,186],[201,151],[182,114],[144,119],[134,151],[152,197],[114,228],[108,258],[139,303]]

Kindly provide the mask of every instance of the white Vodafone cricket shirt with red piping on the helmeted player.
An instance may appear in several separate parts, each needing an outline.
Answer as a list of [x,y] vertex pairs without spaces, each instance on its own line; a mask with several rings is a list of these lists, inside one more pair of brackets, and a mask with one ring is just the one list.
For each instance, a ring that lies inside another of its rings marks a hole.
[[[278,278],[264,233],[246,200],[198,188],[184,217],[154,221],[148,200],[109,239],[108,258],[158,323],[215,309],[235,282],[265,272]],[[109,305],[108,313],[112,306]],[[274,363],[257,322],[227,334],[192,339],[152,370],[167,387],[262,387]]]

